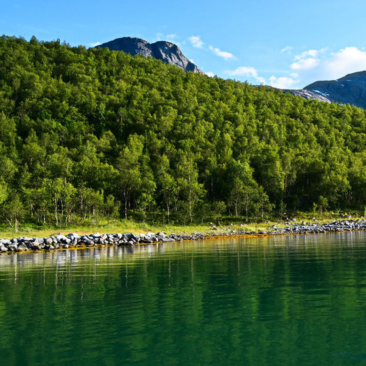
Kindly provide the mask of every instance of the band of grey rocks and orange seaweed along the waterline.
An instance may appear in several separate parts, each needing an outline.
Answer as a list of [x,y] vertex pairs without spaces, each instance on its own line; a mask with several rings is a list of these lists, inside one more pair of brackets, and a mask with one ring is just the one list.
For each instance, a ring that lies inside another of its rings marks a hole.
[[0,253],[16,253],[39,250],[56,250],[67,248],[91,248],[96,246],[134,246],[138,244],[168,243],[174,241],[202,240],[220,237],[256,237],[264,235],[285,234],[319,234],[324,232],[345,232],[366,230],[366,220],[342,220],[330,223],[301,223],[277,228],[273,225],[267,231],[248,232],[244,229],[232,230],[230,228],[218,230],[213,226],[210,232],[194,232],[193,234],[164,234],[164,232],[148,232],[147,234],[89,234],[80,235],[71,233],[57,234],[51,237],[19,237],[13,239],[0,239]]

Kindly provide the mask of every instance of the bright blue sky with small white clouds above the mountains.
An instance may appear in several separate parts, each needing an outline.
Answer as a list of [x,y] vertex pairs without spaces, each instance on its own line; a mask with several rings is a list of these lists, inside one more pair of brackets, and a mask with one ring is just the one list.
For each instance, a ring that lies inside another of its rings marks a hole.
[[366,70],[365,14],[365,0],[15,0],[0,33],[86,47],[169,40],[210,76],[303,88]]

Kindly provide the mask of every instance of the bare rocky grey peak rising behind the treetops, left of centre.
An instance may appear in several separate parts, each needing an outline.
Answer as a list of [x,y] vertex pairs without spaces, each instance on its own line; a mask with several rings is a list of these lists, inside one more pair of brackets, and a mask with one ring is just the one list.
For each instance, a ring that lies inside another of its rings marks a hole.
[[110,42],[98,45],[96,48],[107,47],[111,51],[124,51],[126,54],[143,55],[145,57],[153,57],[158,60],[170,63],[177,67],[181,67],[184,71],[193,71],[198,74],[205,74],[194,63],[189,61],[180,48],[174,43],[165,40],[149,43],[141,38],[122,37],[111,40]]

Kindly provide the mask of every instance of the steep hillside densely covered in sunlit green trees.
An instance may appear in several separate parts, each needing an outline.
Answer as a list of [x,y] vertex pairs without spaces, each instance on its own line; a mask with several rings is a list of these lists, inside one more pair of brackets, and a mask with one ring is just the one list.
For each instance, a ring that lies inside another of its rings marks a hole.
[[0,38],[0,221],[366,205],[366,116],[109,49]]

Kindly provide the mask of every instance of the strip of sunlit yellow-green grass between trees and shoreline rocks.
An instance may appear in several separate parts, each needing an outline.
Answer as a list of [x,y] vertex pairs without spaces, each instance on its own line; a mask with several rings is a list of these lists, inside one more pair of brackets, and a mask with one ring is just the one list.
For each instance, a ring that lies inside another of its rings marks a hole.
[[[334,221],[341,218],[341,214],[345,214],[344,212],[324,212],[323,214],[314,213],[314,212],[296,212],[289,216],[289,218],[296,218],[296,223],[301,223],[302,221],[307,222],[317,222],[324,223],[327,221]],[[351,218],[361,218],[359,212],[353,212]],[[316,220],[313,220],[316,218]],[[266,221],[266,222],[250,222],[239,223],[234,218],[225,217],[225,223],[221,223],[221,225],[216,225],[218,230],[225,230],[226,228],[230,228],[232,230],[245,229],[246,231],[266,231],[269,230],[269,227],[272,225],[276,225],[278,228],[284,227],[286,225],[285,221],[274,220],[274,221]],[[231,221],[233,222],[231,224]],[[295,224],[295,222],[290,222],[291,224]],[[78,234],[92,234],[95,232],[104,233],[116,233],[116,232],[133,232],[134,234],[141,234],[146,232],[159,232],[163,231],[166,234],[171,234],[175,232],[175,234],[190,234],[193,232],[210,232],[212,231],[212,225],[209,223],[205,224],[190,224],[190,225],[168,225],[168,224],[150,224],[143,222],[135,222],[130,220],[116,220],[116,221],[102,221],[100,223],[83,223],[82,225],[69,225],[67,228],[35,228],[32,226],[26,226],[26,224],[20,226],[20,230],[15,233],[15,230],[12,228],[0,228],[0,237],[1,238],[12,238],[12,237],[49,237],[52,234],[61,233],[68,234],[69,232],[77,232]]]

